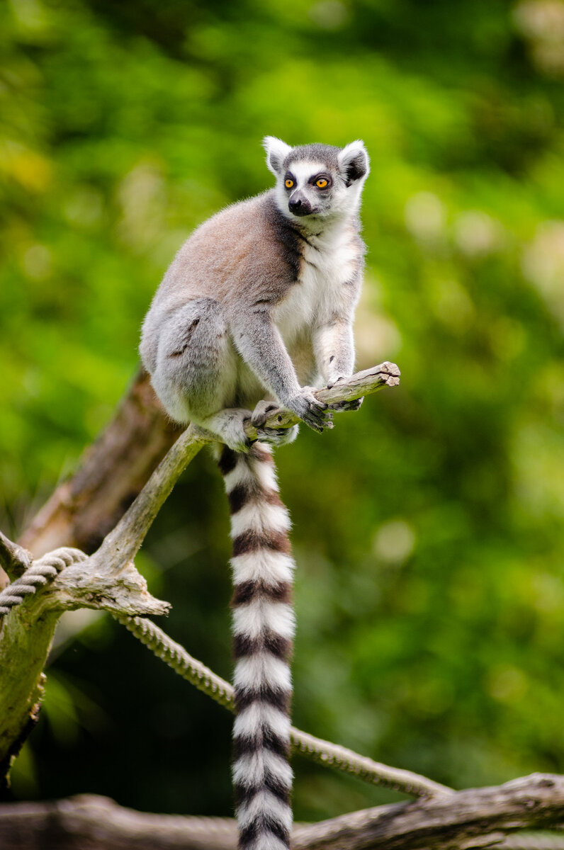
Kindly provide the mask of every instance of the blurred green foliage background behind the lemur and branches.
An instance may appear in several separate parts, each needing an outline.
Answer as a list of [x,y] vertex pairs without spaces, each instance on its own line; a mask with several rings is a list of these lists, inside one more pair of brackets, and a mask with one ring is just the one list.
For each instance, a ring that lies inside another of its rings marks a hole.
[[[111,416],[180,242],[271,184],[260,139],[362,137],[358,365],[402,386],[278,456],[294,721],[457,787],[564,770],[560,0],[11,0],[0,46],[3,529]],[[226,677],[228,553],[200,457],[140,567]],[[229,813],[230,717],[75,616],[14,796]],[[294,762],[298,818],[393,798]]]

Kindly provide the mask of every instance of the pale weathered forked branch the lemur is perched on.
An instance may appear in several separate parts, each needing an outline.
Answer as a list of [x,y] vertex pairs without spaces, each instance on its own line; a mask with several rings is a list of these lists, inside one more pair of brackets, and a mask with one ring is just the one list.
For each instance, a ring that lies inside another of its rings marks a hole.
[[[331,389],[317,390],[316,396],[330,404],[398,382],[399,369],[386,362]],[[292,413],[276,410],[265,426],[285,428],[297,421]],[[250,422],[248,436],[256,439]],[[60,615],[77,608],[104,609],[118,618],[168,613],[170,605],[148,592],[134,558],[179,475],[204,445],[216,439],[192,425],[186,428],[90,556],[65,548],[33,561],[31,553],[0,534],[0,565],[14,579],[3,593],[5,605],[0,598],[0,782],[37,718],[43,667]]]

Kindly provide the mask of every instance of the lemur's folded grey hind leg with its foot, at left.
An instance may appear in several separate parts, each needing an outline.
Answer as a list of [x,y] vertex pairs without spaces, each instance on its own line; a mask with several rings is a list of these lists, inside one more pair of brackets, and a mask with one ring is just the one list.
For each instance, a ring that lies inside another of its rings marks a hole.
[[193,422],[231,449],[248,451],[243,422],[251,411],[227,406],[235,398],[236,353],[214,298],[196,298],[168,317],[152,382],[178,422]]

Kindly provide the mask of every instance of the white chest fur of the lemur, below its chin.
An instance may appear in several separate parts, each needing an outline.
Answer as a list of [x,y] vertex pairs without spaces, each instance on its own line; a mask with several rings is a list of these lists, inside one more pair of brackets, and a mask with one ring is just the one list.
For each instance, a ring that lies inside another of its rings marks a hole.
[[327,235],[308,235],[307,240],[298,281],[274,311],[276,326],[287,344],[305,327],[323,325],[333,314],[341,313],[344,284],[356,275],[360,260],[356,234],[350,227]]

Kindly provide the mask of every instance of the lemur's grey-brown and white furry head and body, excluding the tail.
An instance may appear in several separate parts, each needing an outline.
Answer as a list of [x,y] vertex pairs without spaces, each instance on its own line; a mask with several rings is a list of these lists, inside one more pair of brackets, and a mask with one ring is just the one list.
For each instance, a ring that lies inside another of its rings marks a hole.
[[[364,253],[362,142],[292,149],[267,137],[265,148],[275,189],[227,207],[191,235],[153,299],[140,344],[169,415],[243,451],[243,420],[265,396],[310,428],[330,427],[309,385],[352,374]],[[312,182],[320,167],[326,190]],[[288,207],[296,192],[311,212]],[[269,437],[279,441],[261,435]]]

